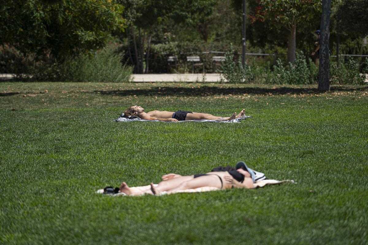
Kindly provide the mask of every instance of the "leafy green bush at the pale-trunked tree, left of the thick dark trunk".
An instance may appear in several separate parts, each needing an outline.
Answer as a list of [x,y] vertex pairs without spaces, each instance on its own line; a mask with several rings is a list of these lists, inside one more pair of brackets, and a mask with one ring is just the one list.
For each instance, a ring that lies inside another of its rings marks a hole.
[[[308,64],[309,63],[309,64]],[[284,66],[281,60],[276,61],[273,71],[273,83],[276,84],[311,84],[316,82],[318,68],[302,52],[296,53],[295,64]]]

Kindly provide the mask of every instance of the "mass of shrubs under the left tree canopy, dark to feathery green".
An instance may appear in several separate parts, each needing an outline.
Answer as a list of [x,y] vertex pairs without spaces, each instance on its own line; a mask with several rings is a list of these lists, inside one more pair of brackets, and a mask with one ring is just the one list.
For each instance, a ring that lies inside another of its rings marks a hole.
[[[13,53],[19,52],[15,50]],[[3,62],[0,64],[3,65]],[[121,57],[112,48],[100,50],[93,55],[69,57],[63,62],[57,62],[52,57],[36,61],[32,55],[24,57],[18,54],[9,57],[7,64],[3,69],[24,81],[129,82],[132,74],[132,68],[123,65]]]

